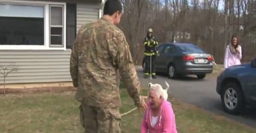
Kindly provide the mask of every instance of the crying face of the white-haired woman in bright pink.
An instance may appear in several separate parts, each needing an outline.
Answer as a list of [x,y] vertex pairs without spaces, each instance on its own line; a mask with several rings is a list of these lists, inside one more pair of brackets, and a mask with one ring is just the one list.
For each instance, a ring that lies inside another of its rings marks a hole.
[[149,101],[151,104],[151,107],[154,108],[158,108],[160,107],[161,103],[162,103],[162,97],[158,97],[156,94],[156,91],[154,91],[153,89],[150,89],[149,91]]

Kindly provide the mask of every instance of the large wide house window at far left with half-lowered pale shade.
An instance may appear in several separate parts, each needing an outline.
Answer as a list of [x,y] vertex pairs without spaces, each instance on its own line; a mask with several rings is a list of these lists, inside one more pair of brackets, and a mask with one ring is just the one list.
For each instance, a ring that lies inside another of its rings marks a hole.
[[0,4],[0,38],[1,45],[44,45],[44,6]]

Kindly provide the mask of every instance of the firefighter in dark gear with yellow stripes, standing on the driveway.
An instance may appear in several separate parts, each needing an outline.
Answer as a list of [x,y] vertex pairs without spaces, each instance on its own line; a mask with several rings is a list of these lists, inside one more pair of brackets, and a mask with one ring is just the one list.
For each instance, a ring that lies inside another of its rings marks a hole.
[[149,28],[147,30],[147,36],[144,38],[143,44],[145,46],[145,70],[144,70],[144,78],[147,79],[151,74],[154,79],[156,79],[156,46],[158,42],[153,37],[153,30]]

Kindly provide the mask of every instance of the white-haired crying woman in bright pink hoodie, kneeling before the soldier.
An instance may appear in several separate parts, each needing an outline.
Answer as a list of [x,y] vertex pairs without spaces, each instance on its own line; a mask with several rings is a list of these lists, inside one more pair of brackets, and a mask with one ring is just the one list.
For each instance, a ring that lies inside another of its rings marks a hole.
[[162,88],[151,87],[148,96],[148,110],[144,114],[141,133],[177,133],[172,104],[162,97]]

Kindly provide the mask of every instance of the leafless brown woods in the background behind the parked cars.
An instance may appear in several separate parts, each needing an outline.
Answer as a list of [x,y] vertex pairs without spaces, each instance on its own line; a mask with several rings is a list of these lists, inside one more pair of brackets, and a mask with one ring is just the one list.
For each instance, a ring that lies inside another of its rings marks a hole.
[[[224,50],[232,34],[239,36],[240,44],[247,45],[243,46],[243,55],[255,53],[251,49],[256,48],[255,0],[121,1],[125,9],[121,26],[133,60],[139,64],[143,58],[142,39],[149,27],[160,44],[174,40],[191,42],[214,55],[218,64],[224,61]],[[189,37],[184,38],[184,34]],[[251,60],[250,56],[243,56],[242,61],[247,60]]]

